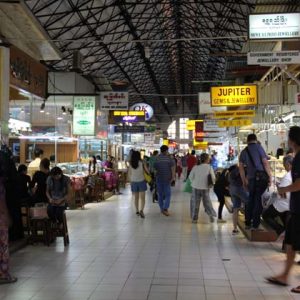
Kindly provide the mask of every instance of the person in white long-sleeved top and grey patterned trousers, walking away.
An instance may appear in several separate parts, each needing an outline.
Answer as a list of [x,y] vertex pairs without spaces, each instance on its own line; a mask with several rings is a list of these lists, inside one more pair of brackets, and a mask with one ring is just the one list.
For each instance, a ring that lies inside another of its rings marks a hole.
[[189,175],[193,188],[191,197],[191,218],[193,223],[197,223],[198,221],[201,199],[203,200],[203,206],[210,221],[214,222],[214,218],[217,216],[209,197],[209,189],[211,188],[208,181],[209,175],[214,183],[216,178],[215,173],[210,166],[209,155],[207,153],[202,153],[200,156],[200,165],[195,166]]

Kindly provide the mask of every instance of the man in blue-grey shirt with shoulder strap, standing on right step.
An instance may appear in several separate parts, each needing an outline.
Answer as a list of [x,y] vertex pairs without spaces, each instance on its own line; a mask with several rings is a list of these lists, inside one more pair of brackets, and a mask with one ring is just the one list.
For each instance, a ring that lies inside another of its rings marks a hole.
[[[239,170],[244,188],[249,191],[249,201],[245,207],[246,229],[260,230],[262,214],[261,196],[272,182],[268,156],[258,143],[255,134],[249,134],[248,146],[241,152]],[[247,170],[247,172],[246,172]]]

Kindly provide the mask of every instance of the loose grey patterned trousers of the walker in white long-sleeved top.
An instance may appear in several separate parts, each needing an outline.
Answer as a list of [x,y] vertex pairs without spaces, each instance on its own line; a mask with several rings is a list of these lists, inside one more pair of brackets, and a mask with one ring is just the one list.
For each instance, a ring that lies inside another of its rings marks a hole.
[[191,197],[191,218],[193,220],[198,220],[199,215],[199,208],[201,199],[203,200],[203,206],[205,209],[205,212],[210,217],[216,217],[217,214],[212,206],[210,197],[209,197],[209,189],[207,190],[198,190],[193,188],[192,197]]

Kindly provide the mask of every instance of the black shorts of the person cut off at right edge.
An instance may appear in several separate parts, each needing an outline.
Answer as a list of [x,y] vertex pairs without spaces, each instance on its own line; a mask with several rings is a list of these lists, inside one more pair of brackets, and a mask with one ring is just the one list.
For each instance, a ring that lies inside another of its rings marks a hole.
[[284,243],[291,245],[294,251],[300,251],[300,215],[291,214],[286,226]]

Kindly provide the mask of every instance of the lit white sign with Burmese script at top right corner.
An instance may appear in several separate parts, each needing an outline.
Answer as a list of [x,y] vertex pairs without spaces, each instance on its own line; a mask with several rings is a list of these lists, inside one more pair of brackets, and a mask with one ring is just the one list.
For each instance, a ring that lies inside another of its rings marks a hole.
[[297,39],[300,13],[257,14],[249,16],[249,39]]

